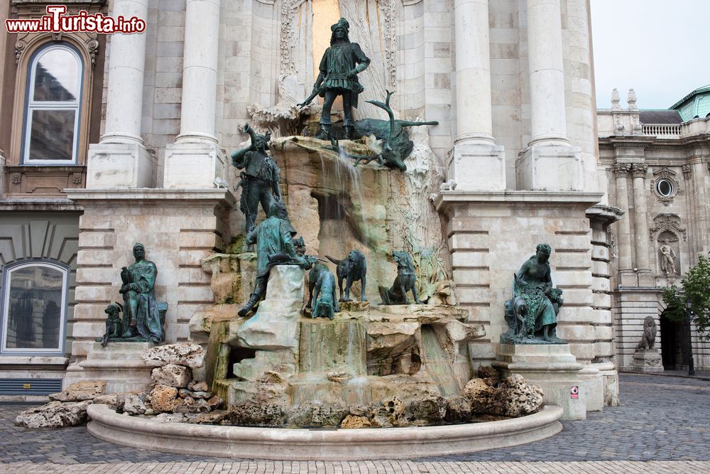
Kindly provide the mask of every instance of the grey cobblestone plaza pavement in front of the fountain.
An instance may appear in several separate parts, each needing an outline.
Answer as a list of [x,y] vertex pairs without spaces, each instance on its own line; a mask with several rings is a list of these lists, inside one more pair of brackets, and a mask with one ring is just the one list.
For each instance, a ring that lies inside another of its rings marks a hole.
[[[710,472],[710,380],[620,375],[623,405],[563,421],[544,441],[410,461],[226,460],[135,450],[85,426],[23,429],[0,405],[0,472],[17,473],[667,473]],[[587,462],[584,462],[587,461]]]

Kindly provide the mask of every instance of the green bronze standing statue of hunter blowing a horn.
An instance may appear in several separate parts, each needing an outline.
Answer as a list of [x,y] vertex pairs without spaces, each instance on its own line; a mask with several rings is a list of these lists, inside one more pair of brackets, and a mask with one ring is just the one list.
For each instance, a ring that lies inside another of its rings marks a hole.
[[240,131],[249,134],[251,145],[231,153],[231,163],[237,169],[244,170],[239,173],[241,177],[239,210],[246,217],[246,231],[249,232],[256,221],[259,203],[268,217],[271,205],[281,200],[281,190],[278,187],[280,170],[273,158],[268,155],[270,134],[257,134],[249,124],[244,124]]

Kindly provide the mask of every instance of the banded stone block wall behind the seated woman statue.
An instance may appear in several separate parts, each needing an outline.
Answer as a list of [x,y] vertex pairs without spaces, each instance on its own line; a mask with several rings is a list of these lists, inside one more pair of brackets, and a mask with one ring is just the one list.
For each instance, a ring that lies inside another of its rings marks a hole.
[[457,298],[469,309],[469,321],[486,325],[486,338],[471,343],[474,362],[495,358],[495,345],[508,330],[503,303],[512,296],[513,275],[542,242],[552,247],[552,282],[564,292],[557,335],[569,342],[578,362],[593,362],[596,327],[608,321],[595,309],[604,301],[594,293],[598,249],[585,215],[594,197],[564,195],[563,203],[550,202],[552,193],[469,193],[462,203],[465,194],[454,194],[442,193],[437,208],[446,214]]

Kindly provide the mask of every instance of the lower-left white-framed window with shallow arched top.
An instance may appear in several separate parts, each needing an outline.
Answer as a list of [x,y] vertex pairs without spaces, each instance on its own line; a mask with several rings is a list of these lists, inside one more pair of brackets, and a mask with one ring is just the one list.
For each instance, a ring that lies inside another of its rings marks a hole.
[[1,352],[63,352],[68,276],[65,266],[46,261],[5,269]]

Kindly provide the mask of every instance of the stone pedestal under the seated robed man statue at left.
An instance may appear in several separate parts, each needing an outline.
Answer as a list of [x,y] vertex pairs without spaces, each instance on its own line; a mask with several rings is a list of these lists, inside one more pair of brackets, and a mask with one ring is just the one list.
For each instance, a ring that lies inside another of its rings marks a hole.
[[67,367],[62,387],[81,380],[106,380],[106,393],[143,392],[151,384],[151,370],[141,352],[152,343],[94,343],[87,359]]

